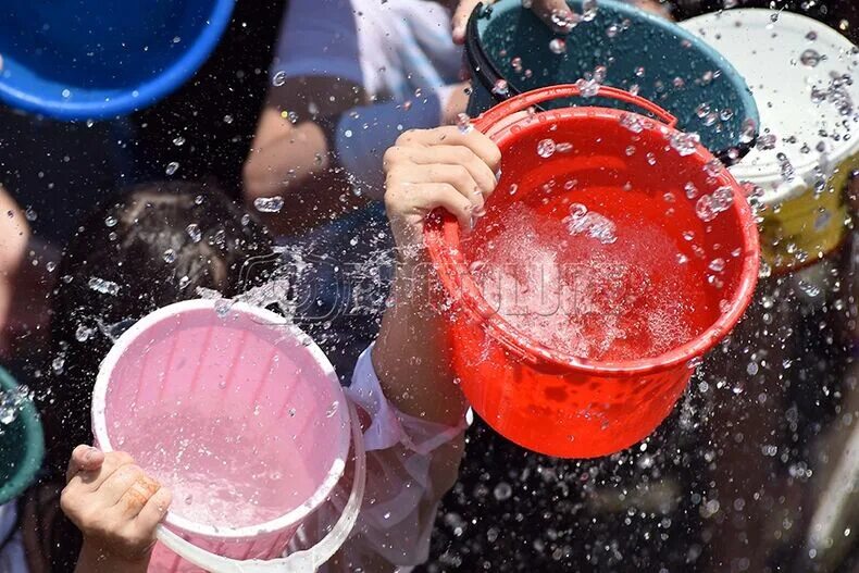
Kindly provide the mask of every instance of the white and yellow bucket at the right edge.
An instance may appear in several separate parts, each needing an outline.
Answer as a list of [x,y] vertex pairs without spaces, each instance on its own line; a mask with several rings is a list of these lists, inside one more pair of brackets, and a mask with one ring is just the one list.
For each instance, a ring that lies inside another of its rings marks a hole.
[[[784,11],[731,10],[683,26],[752,80],[762,135],[731,172],[762,189],[763,260],[776,273],[821,261],[846,236],[845,191],[859,167],[859,50]],[[834,87],[833,74],[852,79]]]

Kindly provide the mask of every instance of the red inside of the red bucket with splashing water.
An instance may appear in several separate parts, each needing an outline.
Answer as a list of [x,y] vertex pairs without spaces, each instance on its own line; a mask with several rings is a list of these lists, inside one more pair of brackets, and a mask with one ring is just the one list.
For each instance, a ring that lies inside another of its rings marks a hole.
[[[661,356],[711,328],[738,297],[750,248],[733,204],[745,199],[721,164],[700,147],[681,155],[676,132],[634,133],[619,116],[630,117],[556,110],[507,127],[501,180],[462,244],[496,320],[600,362]],[[699,205],[725,192],[714,216]]]

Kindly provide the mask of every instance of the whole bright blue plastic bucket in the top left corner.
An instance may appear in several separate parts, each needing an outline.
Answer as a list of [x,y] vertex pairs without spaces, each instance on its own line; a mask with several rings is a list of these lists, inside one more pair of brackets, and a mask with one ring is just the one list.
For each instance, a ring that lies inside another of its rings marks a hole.
[[146,108],[206,61],[233,4],[8,0],[0,20],[0,98],[60,120]]

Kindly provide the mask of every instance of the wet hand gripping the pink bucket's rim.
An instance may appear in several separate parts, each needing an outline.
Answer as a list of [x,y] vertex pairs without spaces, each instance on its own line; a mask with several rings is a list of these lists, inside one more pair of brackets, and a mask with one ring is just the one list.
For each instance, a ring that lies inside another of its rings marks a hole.
[[85,559],[102,564],[104,560],[148,562],[155,527],[171,502],[170,490],[147,476],[127,453],[103,453],[88,446],[72,452],[66,481],[60,506],[84,533],[78,569]]

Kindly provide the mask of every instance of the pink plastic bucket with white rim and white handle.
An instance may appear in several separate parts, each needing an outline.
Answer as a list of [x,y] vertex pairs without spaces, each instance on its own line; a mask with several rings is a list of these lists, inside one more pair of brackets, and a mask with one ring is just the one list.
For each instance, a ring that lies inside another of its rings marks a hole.
[[[322,351],[284,322],[244,303],[178,302],[105,358],[99,446],[173,490],[150,572],[315,571],[351,531],[365,479],[357,415]],[[343,476],[350,427],[356,478],[339,521],[312,550],[277,559]]]

